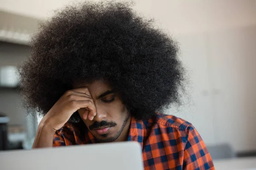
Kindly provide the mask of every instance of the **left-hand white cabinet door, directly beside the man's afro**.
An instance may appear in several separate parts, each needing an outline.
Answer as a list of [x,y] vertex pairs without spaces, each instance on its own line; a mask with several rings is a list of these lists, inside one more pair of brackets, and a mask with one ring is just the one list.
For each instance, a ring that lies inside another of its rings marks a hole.
[[215,144],[214,114],[207,62],[206,34],[186,34],[177,36],[180,45],[180,57],[187,70],[187,95],[177,112],[173,115],[191,122],[204,142]]

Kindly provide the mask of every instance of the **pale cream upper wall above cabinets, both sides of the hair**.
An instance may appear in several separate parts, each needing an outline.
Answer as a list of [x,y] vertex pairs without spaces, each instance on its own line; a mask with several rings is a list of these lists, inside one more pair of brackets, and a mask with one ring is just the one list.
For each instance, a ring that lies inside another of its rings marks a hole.
[[[46,18],[54,9],[84,0],[1,0],[0,10]],[[99,0],[92,0],[99,1]],[[130,1],[130,0],[120,0]],[[255,23],[255,0],[134,0],[134,9],[151,16],[172,34],[201,32]]]

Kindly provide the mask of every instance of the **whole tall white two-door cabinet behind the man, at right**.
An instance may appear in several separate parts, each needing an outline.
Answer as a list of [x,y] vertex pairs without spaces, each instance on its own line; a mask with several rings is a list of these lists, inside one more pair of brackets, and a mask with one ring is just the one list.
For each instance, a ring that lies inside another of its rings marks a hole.
[[191,99],[169,113],[192,122],[206,144],[256,150],[256,26],[176,38]]

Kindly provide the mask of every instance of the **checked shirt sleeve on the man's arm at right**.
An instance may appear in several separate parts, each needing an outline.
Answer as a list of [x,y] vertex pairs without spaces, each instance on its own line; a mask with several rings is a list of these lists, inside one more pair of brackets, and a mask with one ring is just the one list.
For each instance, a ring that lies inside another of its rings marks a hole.
[[183,170],[215,170],[212,158],[195,127],[187,128],[186,137]]

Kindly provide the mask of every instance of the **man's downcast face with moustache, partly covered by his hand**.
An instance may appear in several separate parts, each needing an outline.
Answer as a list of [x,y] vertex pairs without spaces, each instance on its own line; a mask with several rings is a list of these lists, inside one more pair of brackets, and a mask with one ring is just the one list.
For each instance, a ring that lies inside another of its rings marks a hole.
[[74,88],[87,87],[96,107],[93,120],[83,119],[86,108],[78,110],[81,119],[99,142],[123,141],[127,139],[131,116],[118,93],[103,81],[93,84],[74,85]]

